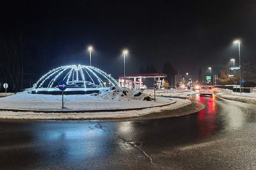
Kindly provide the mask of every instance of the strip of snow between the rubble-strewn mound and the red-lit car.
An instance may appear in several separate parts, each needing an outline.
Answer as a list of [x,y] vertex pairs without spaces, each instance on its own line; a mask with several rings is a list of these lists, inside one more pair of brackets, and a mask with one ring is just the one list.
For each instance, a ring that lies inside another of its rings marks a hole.
[[[145,93],[154,96],[154,89],[147,89],[144,91]],[[195,95],[197,92],[190,90],[190,91],[180,91],[177,89],[157,89],[156,96],[163,96],[163,97],[174,97],[174,98],[189,98],[192,95]]]

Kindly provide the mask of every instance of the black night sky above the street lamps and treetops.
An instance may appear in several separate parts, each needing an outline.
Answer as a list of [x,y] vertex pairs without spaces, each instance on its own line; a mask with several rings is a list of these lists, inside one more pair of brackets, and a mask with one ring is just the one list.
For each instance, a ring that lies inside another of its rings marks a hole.
[[152,64],[161,72],[167,61],[194,76],[200,67],[217,72],[230,58],[238,61],[235,38],[242,40],[242,61],[256,60],[256,1],[8,1],[0,14],[1,35],[30,40],[27,59],[38,61],[34,41],[46,39],[45,72],[88,65],[88,45],[95,49],[92,65],[113,75],[123,72],[124,48],[128,73]]

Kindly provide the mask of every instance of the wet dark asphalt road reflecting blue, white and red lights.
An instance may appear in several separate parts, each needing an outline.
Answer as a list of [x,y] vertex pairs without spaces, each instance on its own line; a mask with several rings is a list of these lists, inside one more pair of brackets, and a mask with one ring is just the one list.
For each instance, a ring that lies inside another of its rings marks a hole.
[[256,105],[145,121],[0,121],[0,169],[256,169]]

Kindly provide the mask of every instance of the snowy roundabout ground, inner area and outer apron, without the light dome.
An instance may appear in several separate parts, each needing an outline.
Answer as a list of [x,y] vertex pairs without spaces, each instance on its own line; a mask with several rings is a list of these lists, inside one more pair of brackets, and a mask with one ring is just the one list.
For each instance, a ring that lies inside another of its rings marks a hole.
[[[157,97],[156,102],[134,97],[131,89],[117,88],[92,95],[65,95],[61,109],[60,95],[31,94],[30,89],[0,98],[0,118],[14,120],[124,120],[156,119],[182,116],[204,109],[190,100]],[[122,96],[125,93],[126,96]],[[127,92],[129,91],[129,92]],[[139,91],[140,93],[140,91]],[[129,95],[128,95],[129,94]],[[184,108],[186,108],[184,110]]]

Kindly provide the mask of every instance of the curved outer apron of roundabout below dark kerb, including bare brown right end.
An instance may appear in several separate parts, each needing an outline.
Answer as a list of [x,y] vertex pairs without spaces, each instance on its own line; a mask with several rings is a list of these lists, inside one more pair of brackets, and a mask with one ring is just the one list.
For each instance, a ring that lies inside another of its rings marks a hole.
[[204,109],[202,105],[195,107],[189,100],[175,99],[163,105],[148,108],[129,108],[127,111],[95,111],[95,112],[33,112],[33,111],[0,111],[0,118],[6,120],[149,120],[183,116]]

